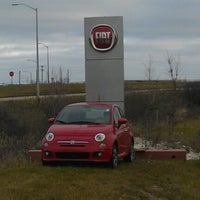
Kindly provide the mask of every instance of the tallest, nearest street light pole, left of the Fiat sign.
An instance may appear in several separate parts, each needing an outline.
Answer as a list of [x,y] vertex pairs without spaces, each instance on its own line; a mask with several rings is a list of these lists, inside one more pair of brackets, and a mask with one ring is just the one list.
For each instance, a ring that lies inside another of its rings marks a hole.
[[39,83],[39,48],[38,48],[38,10],[37,8],[33,8],[32,6],[29,6],[25,3],[14,3],[12,6],[25,6],[35,11],[35,17],[36,17],[36,87],[37,87],[37,94],[36,98],[39,102],[40,100],[40,83]]

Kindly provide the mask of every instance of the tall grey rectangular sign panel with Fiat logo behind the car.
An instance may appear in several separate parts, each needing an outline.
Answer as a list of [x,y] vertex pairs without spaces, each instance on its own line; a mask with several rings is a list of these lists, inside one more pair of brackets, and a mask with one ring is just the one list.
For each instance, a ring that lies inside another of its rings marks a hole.
[[86,101],[124,108],[122,17],[85,18]]

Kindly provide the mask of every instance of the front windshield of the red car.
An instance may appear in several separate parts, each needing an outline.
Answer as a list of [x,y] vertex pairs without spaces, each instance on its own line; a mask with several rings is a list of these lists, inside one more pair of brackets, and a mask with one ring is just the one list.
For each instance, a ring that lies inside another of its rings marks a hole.
[[59,124],[110,124],[108,106],[67,106],[56,118]]

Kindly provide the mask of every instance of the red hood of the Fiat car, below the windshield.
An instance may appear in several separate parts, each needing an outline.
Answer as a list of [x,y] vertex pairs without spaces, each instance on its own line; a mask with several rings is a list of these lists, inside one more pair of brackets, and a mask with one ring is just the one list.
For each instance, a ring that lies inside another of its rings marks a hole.
[[75,136],[75,135],[87,135],[92,136],[96,133],[103,132],[107,133],[110,132],[112,129],[112,125],[58,125],[54,124],[52,125],[48,133],[52,132],[56,136]]

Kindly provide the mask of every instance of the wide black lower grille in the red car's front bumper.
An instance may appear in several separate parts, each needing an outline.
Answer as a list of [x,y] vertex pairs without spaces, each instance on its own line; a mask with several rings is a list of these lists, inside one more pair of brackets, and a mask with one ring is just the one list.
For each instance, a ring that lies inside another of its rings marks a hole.
[[56,157],[60,159],[88,159],[89,153],[56,152]]

